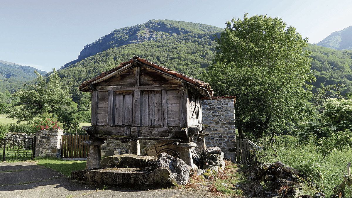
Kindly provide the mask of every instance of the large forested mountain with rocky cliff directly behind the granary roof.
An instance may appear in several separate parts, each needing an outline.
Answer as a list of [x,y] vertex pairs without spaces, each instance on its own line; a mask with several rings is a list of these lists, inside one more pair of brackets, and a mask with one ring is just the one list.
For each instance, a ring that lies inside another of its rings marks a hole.
[[150,20],[142,25],[114,30],[86,45],[80,57],[65,64],[58,74],[71,85],[73,99],[77,102],[84,95],[77,89],[84,80],[116,67],[134,55],[200,78],[214,57],[215,35],[219,36],[222,30],[184,21]]

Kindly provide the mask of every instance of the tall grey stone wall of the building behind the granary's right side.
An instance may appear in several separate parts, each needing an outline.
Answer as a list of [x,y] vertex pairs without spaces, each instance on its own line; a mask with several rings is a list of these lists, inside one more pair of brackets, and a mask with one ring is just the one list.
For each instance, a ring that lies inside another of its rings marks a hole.
[[230,156],[235,151],[235,97],[215,97],[202,100],[203,124],[209,127],[203,131],[207,147],[220,147],[221,151]]

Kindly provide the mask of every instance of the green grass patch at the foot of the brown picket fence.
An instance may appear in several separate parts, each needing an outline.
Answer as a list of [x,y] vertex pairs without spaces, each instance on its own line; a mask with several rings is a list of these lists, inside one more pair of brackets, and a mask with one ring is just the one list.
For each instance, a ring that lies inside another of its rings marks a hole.
[[54,169],[57,172],[71,177],[71,171],[80,171],[86,169],[86,161],[62,160],[62,159],[36,159],[37,165]]

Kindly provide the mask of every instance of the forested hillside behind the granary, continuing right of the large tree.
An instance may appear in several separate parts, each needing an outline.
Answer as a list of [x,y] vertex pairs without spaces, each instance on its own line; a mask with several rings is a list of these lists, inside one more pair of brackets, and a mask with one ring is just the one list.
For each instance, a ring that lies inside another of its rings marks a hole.
[[[144,39],[145,37],[139,37],[139,39],[133,37],[132,42],[132,37],[129,35],[143,32],[141,29],[145,27],[155,32],[166,31],[166,33],[160,33],[164,36],[150,40]],[[77,87],[84,80],[116,67],[120,62],[128,61],[133,55],[200,79],[215,55],[217,44],[214,38],[220,35],[219,30],[221,29],[204,24],[150,20],[142,25],[114,30],[99,41],[88,44],[81,54],[86,53],[84,51],[88,48],[94,48],[95,55],[76,63],[71,62],[73,64],[66,64],[58,70],[58,73],[70,85],[74,101],[82,98],[82,93]],[[168,34],[167,32],[170,31],[173,33]],[[124,42],[121,38],[124,38],[122,39]],[[127,40],[132,43],[128,44]],[[121,46],[116,47],[118,45]],[[105,48],[107,50],[103,50]],[[343,93],[352,92],[352,51],[339,51],[311,44],[306,49],[312,51],[312,73],[317,79],[313,82],[313,92],[328,85],[338,84],[346,86],[342,88]]]

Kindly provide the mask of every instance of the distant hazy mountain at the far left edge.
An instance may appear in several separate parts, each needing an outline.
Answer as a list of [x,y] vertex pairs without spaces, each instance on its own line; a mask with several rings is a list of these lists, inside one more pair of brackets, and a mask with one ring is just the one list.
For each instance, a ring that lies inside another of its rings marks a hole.
[[0,92],[14,92],[24,83],[36,79],[34,71],[41,75],[47,73],[33,67],[0,60]]

